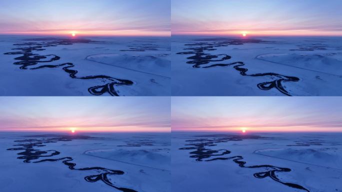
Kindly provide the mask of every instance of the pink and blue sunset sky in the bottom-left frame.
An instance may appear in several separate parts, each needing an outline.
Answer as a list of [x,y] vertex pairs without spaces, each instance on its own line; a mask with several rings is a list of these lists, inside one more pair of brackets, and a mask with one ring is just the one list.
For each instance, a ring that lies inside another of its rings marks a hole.
[[169,132],[169,97],[0,97],[0,131]]

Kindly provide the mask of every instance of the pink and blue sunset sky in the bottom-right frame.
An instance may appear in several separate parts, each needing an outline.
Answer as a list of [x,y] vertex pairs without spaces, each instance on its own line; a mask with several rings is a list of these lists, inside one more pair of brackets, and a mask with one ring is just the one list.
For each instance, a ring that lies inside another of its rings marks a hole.
[[171,101],[172,131],[342,131],[342,97],[172,97]]

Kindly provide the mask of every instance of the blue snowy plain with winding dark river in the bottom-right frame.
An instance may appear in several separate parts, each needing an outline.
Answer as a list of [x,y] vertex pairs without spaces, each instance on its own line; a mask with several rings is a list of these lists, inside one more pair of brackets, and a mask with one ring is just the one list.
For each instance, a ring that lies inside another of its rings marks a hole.
[[341,133],[172,132],[172,191],[342,191],[341,144]]

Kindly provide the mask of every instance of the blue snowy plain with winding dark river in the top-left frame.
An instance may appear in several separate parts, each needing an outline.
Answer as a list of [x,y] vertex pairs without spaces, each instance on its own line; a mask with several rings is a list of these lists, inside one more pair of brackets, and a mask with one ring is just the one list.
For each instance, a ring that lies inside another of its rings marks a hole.
[[0,95],[171,94],[169,37],[0,35],[0,52]]

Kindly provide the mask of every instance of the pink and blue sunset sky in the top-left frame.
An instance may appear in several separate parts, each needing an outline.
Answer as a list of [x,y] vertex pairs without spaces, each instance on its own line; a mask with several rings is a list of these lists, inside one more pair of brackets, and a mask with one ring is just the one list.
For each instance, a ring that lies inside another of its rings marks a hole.
[[0,0],[0,34],[170,35],[170,0]]

